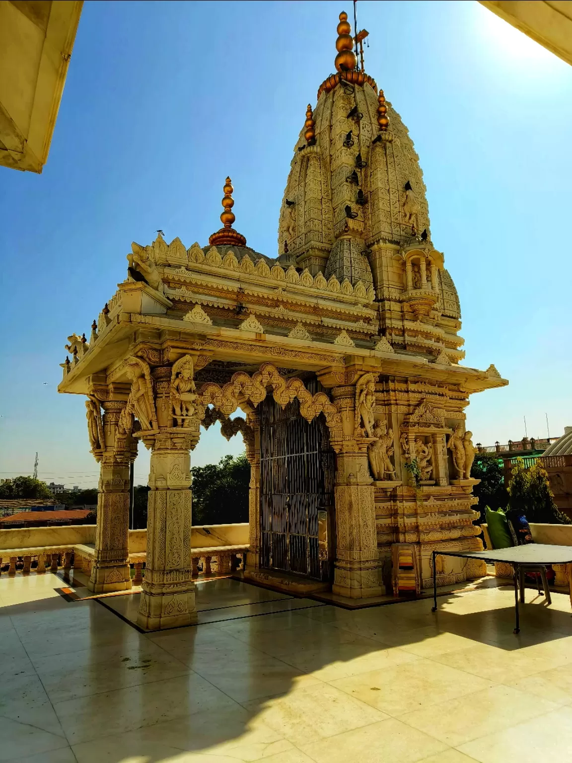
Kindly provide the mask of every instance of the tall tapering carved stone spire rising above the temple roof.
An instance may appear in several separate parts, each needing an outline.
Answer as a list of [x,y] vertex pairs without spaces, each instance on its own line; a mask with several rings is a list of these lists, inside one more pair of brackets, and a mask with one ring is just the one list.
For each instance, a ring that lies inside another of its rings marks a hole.
[[[325,270],[326,277],[331,272],[371,282],[371,272],[364,278],[368,265],[363,253],[374,243],[401,246],[422,233],[430,240],[419,156],[397,111],[359,69],[323,82],[310,120],[309,130],[307,114],[294,146],[278,253]],[[339,272],[340,263],[352,261],[349,250],[355,250],[353,272]]]

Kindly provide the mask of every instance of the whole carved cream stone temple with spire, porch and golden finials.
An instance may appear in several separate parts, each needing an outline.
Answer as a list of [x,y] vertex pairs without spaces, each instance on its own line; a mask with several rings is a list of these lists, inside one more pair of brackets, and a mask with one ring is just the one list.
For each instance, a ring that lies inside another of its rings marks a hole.
[[[390,585],[394,543],[413,544],[422,587],[433,550],[481,548],[465,409],[508,382],[461,365],[418,156],[339,19],[336,73],[300,114],[279,256],[234,230],[227,178],[208,245],[133,243],[89,340],[66,345],[59,391],[87,395],[101,468],[92,591],[130,588],[130,463],[151,451],[145,629],[196,618],[191,451],[216,420],[252,468],[247,579],[368,599]],[[438,564],[439,584],[482,572]]]

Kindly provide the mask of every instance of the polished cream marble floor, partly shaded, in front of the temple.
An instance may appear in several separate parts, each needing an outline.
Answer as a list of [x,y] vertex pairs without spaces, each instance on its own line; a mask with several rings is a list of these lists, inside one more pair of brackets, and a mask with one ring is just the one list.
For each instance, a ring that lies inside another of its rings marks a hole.
[[0,578],[0,761],[570,760],[562,594],[547,608],[526,591],[514,636],[511,588],[451,593],[433,614],[428,600],[349,611],[227,578],[198,585],[210,621],[150,634],[62,587]]

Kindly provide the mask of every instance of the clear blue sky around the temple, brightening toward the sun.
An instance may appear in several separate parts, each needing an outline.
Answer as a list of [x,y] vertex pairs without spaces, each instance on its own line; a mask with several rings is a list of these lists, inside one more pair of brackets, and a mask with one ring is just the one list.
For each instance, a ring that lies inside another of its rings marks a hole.
[[[0,167],[0,471],[95,485],[84,401],[58,395],[66,337],[88,333],[157,228],[186,246],[236,225],[276,254],[292,149],[333,71],[340,2],[86,2],[42,175]],[[572,67],[477,2],[358,2],[365,69],[400,112],[432,239],[461,298],[467,357],[510,385],[468,408],[475,441],[545,436],[570,411]],[[218,425],[216,425],[218,429]],[[149,457],[140,446],[136,481]],[[212,427],[194,464],[240,452]]]

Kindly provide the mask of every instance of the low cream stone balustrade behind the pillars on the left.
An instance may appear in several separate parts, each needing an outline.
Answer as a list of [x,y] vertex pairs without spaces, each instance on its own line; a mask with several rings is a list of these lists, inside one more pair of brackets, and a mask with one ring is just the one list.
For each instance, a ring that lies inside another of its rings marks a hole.
[[[133,584],[140,585],[146,562],[146,530],[129,531],[129,563]],[[31,527],[0,530],[0,575],[43,575],[75,569],[89,576],[95,557],[95,526]],[[249,525],[191,528],[193,577],[230,575],[244,568],[249,548]],[[208,544],[208,545],[207,545]]]

